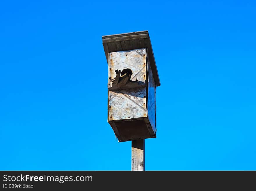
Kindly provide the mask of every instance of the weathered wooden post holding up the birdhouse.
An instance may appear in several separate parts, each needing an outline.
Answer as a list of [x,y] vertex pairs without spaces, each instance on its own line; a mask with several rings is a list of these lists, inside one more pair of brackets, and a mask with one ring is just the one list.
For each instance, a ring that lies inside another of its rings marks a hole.
[[131,170],[145,170],[145,139],[131,141]]

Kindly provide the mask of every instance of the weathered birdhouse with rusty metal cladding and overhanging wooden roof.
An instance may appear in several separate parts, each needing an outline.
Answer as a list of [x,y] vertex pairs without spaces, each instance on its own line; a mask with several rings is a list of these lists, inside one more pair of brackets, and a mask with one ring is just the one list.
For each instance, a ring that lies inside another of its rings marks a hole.
[[148,31],[102,36],[108,62],[108,122],[119,142],[156,138],[160,86]]

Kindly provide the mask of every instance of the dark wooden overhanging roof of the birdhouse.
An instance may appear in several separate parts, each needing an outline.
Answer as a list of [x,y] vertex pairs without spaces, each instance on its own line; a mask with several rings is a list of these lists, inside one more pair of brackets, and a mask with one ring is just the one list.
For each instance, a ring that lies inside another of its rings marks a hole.
[[150,65],[154,76],[155,84],[156,86],[160,86],[157,65],[155,62],[154,53],[148,31],[102,36],[102,44],[104,47],[107,62],[109,62],[110,52],[147,48],[147,56],[149,57],[150,60]]

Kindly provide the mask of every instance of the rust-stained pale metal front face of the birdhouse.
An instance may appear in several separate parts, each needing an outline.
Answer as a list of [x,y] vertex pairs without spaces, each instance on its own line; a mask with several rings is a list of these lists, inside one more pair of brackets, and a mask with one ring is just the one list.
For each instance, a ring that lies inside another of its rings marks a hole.
[[[146,49],[109,53],[109,82],[115,70],[131,69],[131,80],[146,80]],[[146,87],[109,90],[109,121],[147,117]]]

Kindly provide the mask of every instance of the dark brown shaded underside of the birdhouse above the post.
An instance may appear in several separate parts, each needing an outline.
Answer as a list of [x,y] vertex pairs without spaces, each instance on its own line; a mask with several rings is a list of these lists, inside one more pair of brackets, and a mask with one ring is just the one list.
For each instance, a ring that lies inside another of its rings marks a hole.
[[156,138],[147,117],[109,121],[119,142]]

